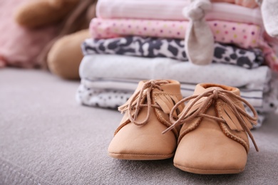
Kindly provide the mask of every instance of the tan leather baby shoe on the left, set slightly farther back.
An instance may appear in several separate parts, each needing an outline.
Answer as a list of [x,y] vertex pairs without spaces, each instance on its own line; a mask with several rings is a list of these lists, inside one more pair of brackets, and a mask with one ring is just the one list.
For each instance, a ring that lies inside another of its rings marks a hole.
[[[130,160],[155,160],[173,157],[180,126],[162,134],[172,124],[169,114],[182,99],[180,83],[174,80],[141,81],[128,102],[119,107],[125,112],[108,147],[110,157]],[[173,117],[183,109],[177,107]]]

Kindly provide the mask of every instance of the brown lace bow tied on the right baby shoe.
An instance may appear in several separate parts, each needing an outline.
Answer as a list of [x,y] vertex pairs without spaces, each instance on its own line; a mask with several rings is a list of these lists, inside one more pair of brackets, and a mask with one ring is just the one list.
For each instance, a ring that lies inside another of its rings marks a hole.
[[[254,117],[248,115],[247,112],[242,110],[239,106],[235,105],[235,103],[228,96],[234,97],[235,99],[240,100],[241,102],[244,102],[244,104],[247,105],[252,110]],[[204,102],[202,102],[202,105],[200,105],[200,107],[197,110],[195,110],[195,112],[188,114],[188,112],[196,104],[196,102],[203,97],[206,97],[206,99],[204,100]],[[194,98],[195,98],[195,100],[193,100],[192,103],[187,107],[187,109],[185,111],[181,112],[181,114],[179,115],[179,118],[177,120],[175,120],[173,114],[174,114],[175,110],[177,109],[177,107],[179,105],[181,105],[182,103],[192,100]],[[258,152],[259,149],[257,147],[256,142],[254,141],[254,137],[252,136],[252,133],[250,132],[249,128],[247,127],[247,123],[244,122],[244,120],[242,119],[242,116],[240,115],[240,114],[244,115],[245,117],[247,117],[249,122],[256,125],[257,112],[256,112],[256,110],[254,110],[254,107],[252,107],[252,105],[249,104],[249,102],[247,102],[242,97],[235,95],[234,93],[232,93],[228,90],[219,90],[217,88],[214,88],[212,90],[206,91],[205,93],[202,93],[201,95],[192,95],[190,97],[186,97],[186,98],[180,100],[180,102],[177,102],[177,104],[173,107],[173,109],[170,112],[170,122],[172,122],[173,125],[168,127],[168,129],[165,129],[163,134],[165,134],[166,132],[169,132],[170,129],[173,129],[176,125],[182,125],[186,122],[190,122],[195,117],[206,117],[206,118],[215,120],[217,122],[227,123],[222,117],[215,117],[215,116],[205,114],[205,111],[207,110],[207,106],[210,105],[213,100],[217,100],[217,99],[223,100],[225,103],[227,103],[227,105],[230,107],[232,112],[235,114],[235,117],[237,118],[241,127],[244,129],[244,131],[247,132],[250,139],[252,139],[254,147]]]

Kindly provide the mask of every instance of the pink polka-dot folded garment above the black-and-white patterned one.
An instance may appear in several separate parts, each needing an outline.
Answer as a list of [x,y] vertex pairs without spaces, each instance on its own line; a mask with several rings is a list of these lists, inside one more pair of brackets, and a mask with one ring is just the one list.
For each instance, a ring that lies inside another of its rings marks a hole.
[[[185,38],[188,21],[158,21],[138,19],[93,18],[90,24],[92,38],[119,36],[153,36],[161,38]],[[260,48],[267,64],[278,70],[278,59],[274,50],[263,38],[263,29],[256,25],[227,21],[207,21],[215,41],[234,43],[241,48]]]

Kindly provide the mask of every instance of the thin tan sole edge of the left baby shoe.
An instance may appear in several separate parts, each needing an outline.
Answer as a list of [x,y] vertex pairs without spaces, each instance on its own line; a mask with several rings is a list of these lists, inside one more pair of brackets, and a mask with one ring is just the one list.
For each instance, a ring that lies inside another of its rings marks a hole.
[[122,154],[108,152],[110,157],[115,159],[125,159],[125,160],[162,160],[169,159],[174,156],[174,154]]

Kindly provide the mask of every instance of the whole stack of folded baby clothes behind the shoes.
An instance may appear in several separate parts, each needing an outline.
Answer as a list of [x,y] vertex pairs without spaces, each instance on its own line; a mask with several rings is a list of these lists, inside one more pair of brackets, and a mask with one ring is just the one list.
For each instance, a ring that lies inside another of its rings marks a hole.
[[98,1],[92,38],[82,46],[78,102],[115,108],[140,80],[173,79],[180,81],[184,97],[192,95],[197,83],[220,83],[240,88],[260,115],[275,110],[270,84],[278,60],[264,38],[257,4],[212,3],[205,14],[215,41],[210,65],[189,62],[185,35],[190,20],[182,14],[189,5],[184,0]]

